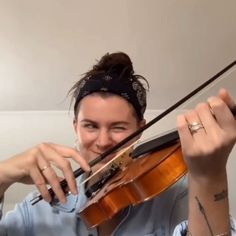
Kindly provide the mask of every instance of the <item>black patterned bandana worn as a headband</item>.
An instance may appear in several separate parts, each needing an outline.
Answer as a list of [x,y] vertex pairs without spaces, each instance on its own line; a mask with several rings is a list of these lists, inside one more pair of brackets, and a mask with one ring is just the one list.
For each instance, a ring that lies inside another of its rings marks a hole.
[[146,90],[132,77],[124,80],[115,73],[99,73],[90,76],[82,81],[78,88],[74,110],[82,98],[94,92],[109,92],[123,97],[133,105],[138,117],[143,118],[146,109]]

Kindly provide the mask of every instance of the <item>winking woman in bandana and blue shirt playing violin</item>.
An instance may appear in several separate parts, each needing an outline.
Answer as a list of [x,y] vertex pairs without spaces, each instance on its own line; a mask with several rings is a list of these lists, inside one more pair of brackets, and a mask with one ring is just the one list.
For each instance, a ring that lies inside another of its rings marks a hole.
[[[0,196],[15,182],[35,184],[45,201],[32,206],[30,194],[0,223],[0,235],[230,235],[226,162],[236,140],[235,106],[225,90],[177,118],[188,190],[183,177],[150,201],[130,206],[94,229],[79,216],[86,201],[84,186],[77,185],[68,158],[89,174],[88,162],[104,153],[145,124],[145,78],[135,75],[125,53],[104,55],[71,89],[74,128],[79,152],[44,143],[0,163]],[[52,165],[62,170],[73,195],[67,199]],[[87,174],[87,175],[88,175]],[[52,207],[46,184],[61,204]],[[90,184],[88,184],[90,185]],[[188,221],[184,221],[188,220]],[[182,222],[182,223],[181,223]],[[176,227],[177,226],[177,227]],[[175,229],[175,230],[174,230]]]

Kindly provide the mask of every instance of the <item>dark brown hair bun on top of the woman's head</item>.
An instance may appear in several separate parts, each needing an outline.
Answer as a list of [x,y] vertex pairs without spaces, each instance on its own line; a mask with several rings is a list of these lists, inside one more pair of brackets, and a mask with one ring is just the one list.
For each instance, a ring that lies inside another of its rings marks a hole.
[[94,72],[113,72],[122,75],[133,75],[133,64],[129,56],[123,52],[107,53],[93,67]]

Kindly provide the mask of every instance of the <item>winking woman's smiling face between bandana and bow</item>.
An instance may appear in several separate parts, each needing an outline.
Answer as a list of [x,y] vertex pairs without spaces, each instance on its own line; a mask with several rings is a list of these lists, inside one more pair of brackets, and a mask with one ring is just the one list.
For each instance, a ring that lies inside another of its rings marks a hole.
[[[117,95],[108,97],[99,94],[87,95],[79,106],[74,126],[80,154],[88,162],[144,124],[144,121],[137,121],[132,105]],[[108,160],[109,157],[102,164]]]

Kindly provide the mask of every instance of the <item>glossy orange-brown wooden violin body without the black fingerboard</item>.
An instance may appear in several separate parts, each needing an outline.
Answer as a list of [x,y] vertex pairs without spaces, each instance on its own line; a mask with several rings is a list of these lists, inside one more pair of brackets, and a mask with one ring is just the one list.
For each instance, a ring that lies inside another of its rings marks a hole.
[[180,143],[132,159],[80,211],[88,228],[112,219],[129,205],[137,205],[166,190],[187,172]]

